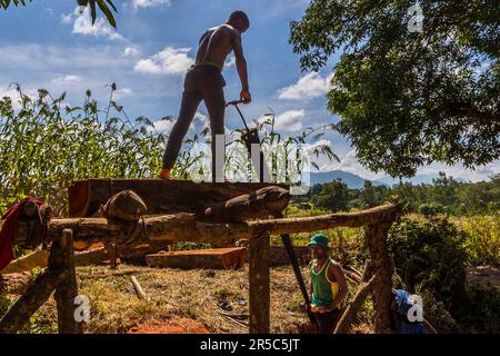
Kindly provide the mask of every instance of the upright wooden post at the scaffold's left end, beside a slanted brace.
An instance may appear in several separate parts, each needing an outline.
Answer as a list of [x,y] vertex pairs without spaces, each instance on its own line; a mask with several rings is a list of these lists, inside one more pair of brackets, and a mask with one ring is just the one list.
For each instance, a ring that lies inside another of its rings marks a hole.
[[59,241],[52,243],[49,269],[68,271],[68,277],[56,287],[53,295],[58,307],[59,334],[82,334],[82,324],[74,319],[74,298],[78,296],[78,284],[74,271],[72,230],[63,230]]

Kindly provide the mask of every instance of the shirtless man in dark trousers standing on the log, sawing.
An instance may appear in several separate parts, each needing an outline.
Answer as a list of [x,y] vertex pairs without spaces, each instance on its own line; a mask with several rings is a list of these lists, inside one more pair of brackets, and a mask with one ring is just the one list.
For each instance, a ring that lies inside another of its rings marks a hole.
[[[248,87],[247,60],[241,47],[241,34],[250,27],[250,21],[243,11],[234,11],[229,20],[221,26],[208,29],[200,38],[194,65],[184,79],[184,90],[179,118],[170,132],[167,149],[163,155],[163,168],[159,178],[170,179],[170,171],[182,146],[182,140],[189,130],[191,121],[201,100],[204,101],[210,117],[212,141],[212,180],[221,178],[222,172],[216,170],[216,136],[224,135],[226,99],[222,77],[226,58],[233,51],[236,65],[241,80],[240,100],[251,101]],[[218,170],[221,170],[219,164]],[[222,176],[223,178],[223,176]],[[218,179],[218,180],[219,180]]]

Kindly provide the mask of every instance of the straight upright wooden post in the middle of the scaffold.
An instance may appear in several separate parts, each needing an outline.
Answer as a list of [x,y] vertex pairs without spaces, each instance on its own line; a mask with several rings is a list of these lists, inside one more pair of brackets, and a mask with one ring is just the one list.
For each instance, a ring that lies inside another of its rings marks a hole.
[[269,233],[267,231],[250,240],[250,334],[269,334],[270,332],[269,249]]

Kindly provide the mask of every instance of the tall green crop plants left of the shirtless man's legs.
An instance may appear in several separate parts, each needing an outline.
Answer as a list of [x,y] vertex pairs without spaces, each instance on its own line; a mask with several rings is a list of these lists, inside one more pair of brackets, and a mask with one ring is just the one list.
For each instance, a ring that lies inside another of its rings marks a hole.
[[41,89],[30,98],[17,89],[19,109],[0,100],[0,211],[30,195],[66,216],[71,181],[152,178],[160,168],[164,137],[148,119],[130,121],[114,101],[109,115],[90,91],[82,107],[62,108],[64,93],[54,99]]

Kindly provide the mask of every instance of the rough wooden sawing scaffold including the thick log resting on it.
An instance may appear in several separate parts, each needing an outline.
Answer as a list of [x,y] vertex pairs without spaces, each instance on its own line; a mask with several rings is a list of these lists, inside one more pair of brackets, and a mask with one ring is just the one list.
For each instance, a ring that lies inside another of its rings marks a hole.
[[[0,333],[16,333],[56,290],[59,333],[82,333],[74,318],[78,285],[73,244],[139,245],[144,241],[192,241],[234,245],[249,240],[249,308],[251,334],[270,332],[269,238],[336,227],[364,227],[370,264],[336,333],[346,333],[368,295],[374,304],[376,333],[390,333],[392,263],[387,235],[398,206],[301,218],[282,216],[290,200],[286,185],[193,182],[159,179],[90,179],[69,189],[69,218],[48,224],[52,241],[49,266],[0,319]],[[123,204],[124,202],[124,204]],[[121,207],[120,207],[121,204]],[[20,220],[14,243],[27,238]]]

